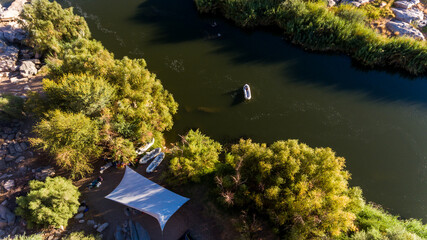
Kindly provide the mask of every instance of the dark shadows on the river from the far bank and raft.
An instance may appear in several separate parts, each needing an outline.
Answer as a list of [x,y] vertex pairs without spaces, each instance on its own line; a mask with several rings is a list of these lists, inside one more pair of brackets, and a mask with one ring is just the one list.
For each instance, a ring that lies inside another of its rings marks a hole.
[[[286,65],[286,81],[358,92],[375,101],[404,101],[427,107],[425,77],[410,77],[391,69],[371,70],[339,54],[306,52],[284,41],[277,29],[241,30],[227,21],[201,16],[192,0],[147,0],[139,5],[132,20],[156,26],[153,43],[203,39],[215,44],[213,54],[229,54],[235,64]],[[212,27],[213,22],[217,26]],[[240,96],[233,99],[233,106],[240,103]]]

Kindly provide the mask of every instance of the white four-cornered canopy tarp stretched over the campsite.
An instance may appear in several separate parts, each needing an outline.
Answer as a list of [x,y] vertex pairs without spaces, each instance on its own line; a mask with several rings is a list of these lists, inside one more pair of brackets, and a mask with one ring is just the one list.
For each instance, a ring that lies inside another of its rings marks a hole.
[[169,218],[189,200],[148,180],[127,166],[120,184],[105,198],[157,218],[162,231]]

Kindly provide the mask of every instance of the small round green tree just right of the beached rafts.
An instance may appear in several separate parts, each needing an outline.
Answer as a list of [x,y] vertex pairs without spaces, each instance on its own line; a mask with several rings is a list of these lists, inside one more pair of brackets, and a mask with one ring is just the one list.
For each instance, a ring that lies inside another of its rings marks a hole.
[[173,153],[170,173],[179,182],[198,182],[200,177],[215,170],[221,150],[221,144],[203,135],[198,129],[190,130]]

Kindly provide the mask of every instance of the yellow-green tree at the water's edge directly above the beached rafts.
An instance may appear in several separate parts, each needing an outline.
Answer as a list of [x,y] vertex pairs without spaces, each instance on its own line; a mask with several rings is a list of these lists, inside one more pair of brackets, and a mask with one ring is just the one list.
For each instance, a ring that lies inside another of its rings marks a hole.
[[118,100],[112,107],[115,131],[131,141],[149,142],[153,135],[172,128],[178,104],[146,69],[144,59],[116,60],[107,79],[117,89]]

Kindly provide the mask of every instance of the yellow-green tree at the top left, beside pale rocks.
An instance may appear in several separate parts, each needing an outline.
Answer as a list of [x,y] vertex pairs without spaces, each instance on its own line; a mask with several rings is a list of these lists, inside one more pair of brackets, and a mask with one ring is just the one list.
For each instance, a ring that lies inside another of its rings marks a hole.
[[75,15],[72,8],[62,9],[55,1],[34,0],[24,6],[21,17],[30,46],[41,53],[58,53],[64,42],[90,38],[85,19]]

